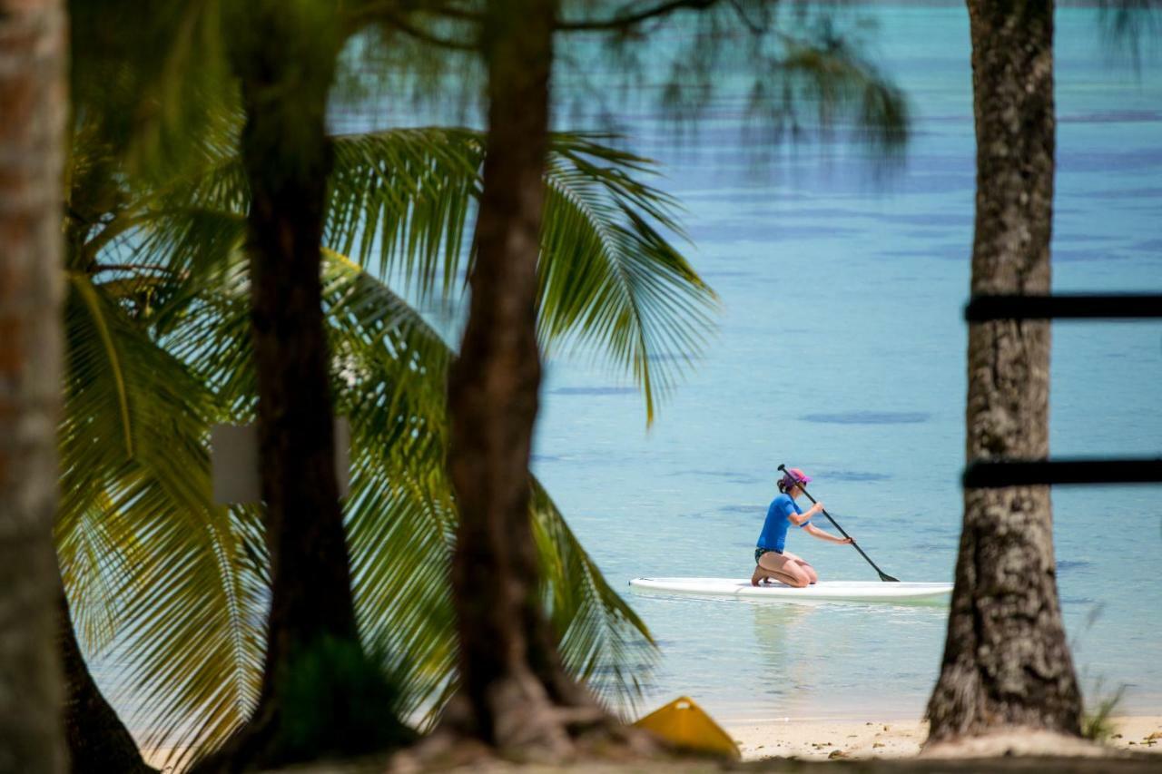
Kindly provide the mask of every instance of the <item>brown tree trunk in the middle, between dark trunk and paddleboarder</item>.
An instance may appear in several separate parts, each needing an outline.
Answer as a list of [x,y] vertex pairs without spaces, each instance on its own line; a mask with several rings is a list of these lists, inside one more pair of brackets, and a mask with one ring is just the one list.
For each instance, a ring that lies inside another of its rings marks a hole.
[[529,454],[540,358],[537,259],[545,203],[554,0],[488,5],[488,152],[472,301],[449,379],[449,468],[460,513],[452,585],[469,734],[503,751],[572,746],[559,707],[604,716],[561,667],[538,594]]

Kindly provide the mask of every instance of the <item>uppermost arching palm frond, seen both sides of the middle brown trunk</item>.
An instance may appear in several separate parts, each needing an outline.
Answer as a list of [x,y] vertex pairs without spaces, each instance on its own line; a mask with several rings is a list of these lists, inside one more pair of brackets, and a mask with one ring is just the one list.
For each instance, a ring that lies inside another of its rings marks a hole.
[[[705,345],[713,292],[665,236],[675,202],[644,181],[653,164],[603,135],[551,137],[539,267],[546,352],[584,345],[641,387],[646,417]],[[425,300],[457,300],[483,137],[401,129],[336,139],[325,242]]]

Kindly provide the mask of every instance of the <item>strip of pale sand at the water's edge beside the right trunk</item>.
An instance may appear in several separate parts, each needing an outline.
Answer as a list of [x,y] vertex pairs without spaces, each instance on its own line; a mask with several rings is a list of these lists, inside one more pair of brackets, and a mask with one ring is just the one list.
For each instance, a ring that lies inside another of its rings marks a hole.
[[[1162,716],[1112,718],[1110,744],[1124,750],[1162,753]],[[796,721],[726,722],[723,728],[738,744],[743,760],[799,758],[810,760],[909,758],[920,752],[927,723],[920,721]]]

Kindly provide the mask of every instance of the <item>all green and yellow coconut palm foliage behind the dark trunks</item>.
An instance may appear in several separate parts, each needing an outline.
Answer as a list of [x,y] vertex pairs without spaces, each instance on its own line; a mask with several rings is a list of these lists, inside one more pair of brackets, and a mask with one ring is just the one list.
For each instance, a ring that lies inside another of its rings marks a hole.
[[[125,191],[78,135],[71,202],[64,501],[57,540],[78,633],[123,669],[151,745],[214,745],[257,700],[268,558],[258,514],[210,497],[208,430],[256,401],[244,253],[246,188],[221,142],[196,171]],[[650,163],[557,135],[546,181],[540,335],[633,377],[647,416],[710,325],[713,295],[666,234]],[[446,567],[456,508],[443,470],[452,352],[393,292],[454,303],[472,261],[478,132],[336,138],[324,308],[336,409],[352,428],[346,521],[361,629],[413,718],[453,680]],[[103,192],[96,195],[94,192]],[[539,485],[546,609],[568,667],[632,704],[653,658]]]

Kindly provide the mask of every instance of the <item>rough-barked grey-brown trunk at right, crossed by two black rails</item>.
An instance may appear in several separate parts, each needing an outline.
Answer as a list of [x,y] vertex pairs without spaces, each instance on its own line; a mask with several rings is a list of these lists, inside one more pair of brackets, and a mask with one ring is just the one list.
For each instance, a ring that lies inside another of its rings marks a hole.
[[[1049,292],[1053,3],[969,0],[976,114],[973,293]],[[1048,454],[1049,324],[969,327],[968,459]],[[931,739],[1000,725],[1079,733],[1048,487],[967,489]]]

